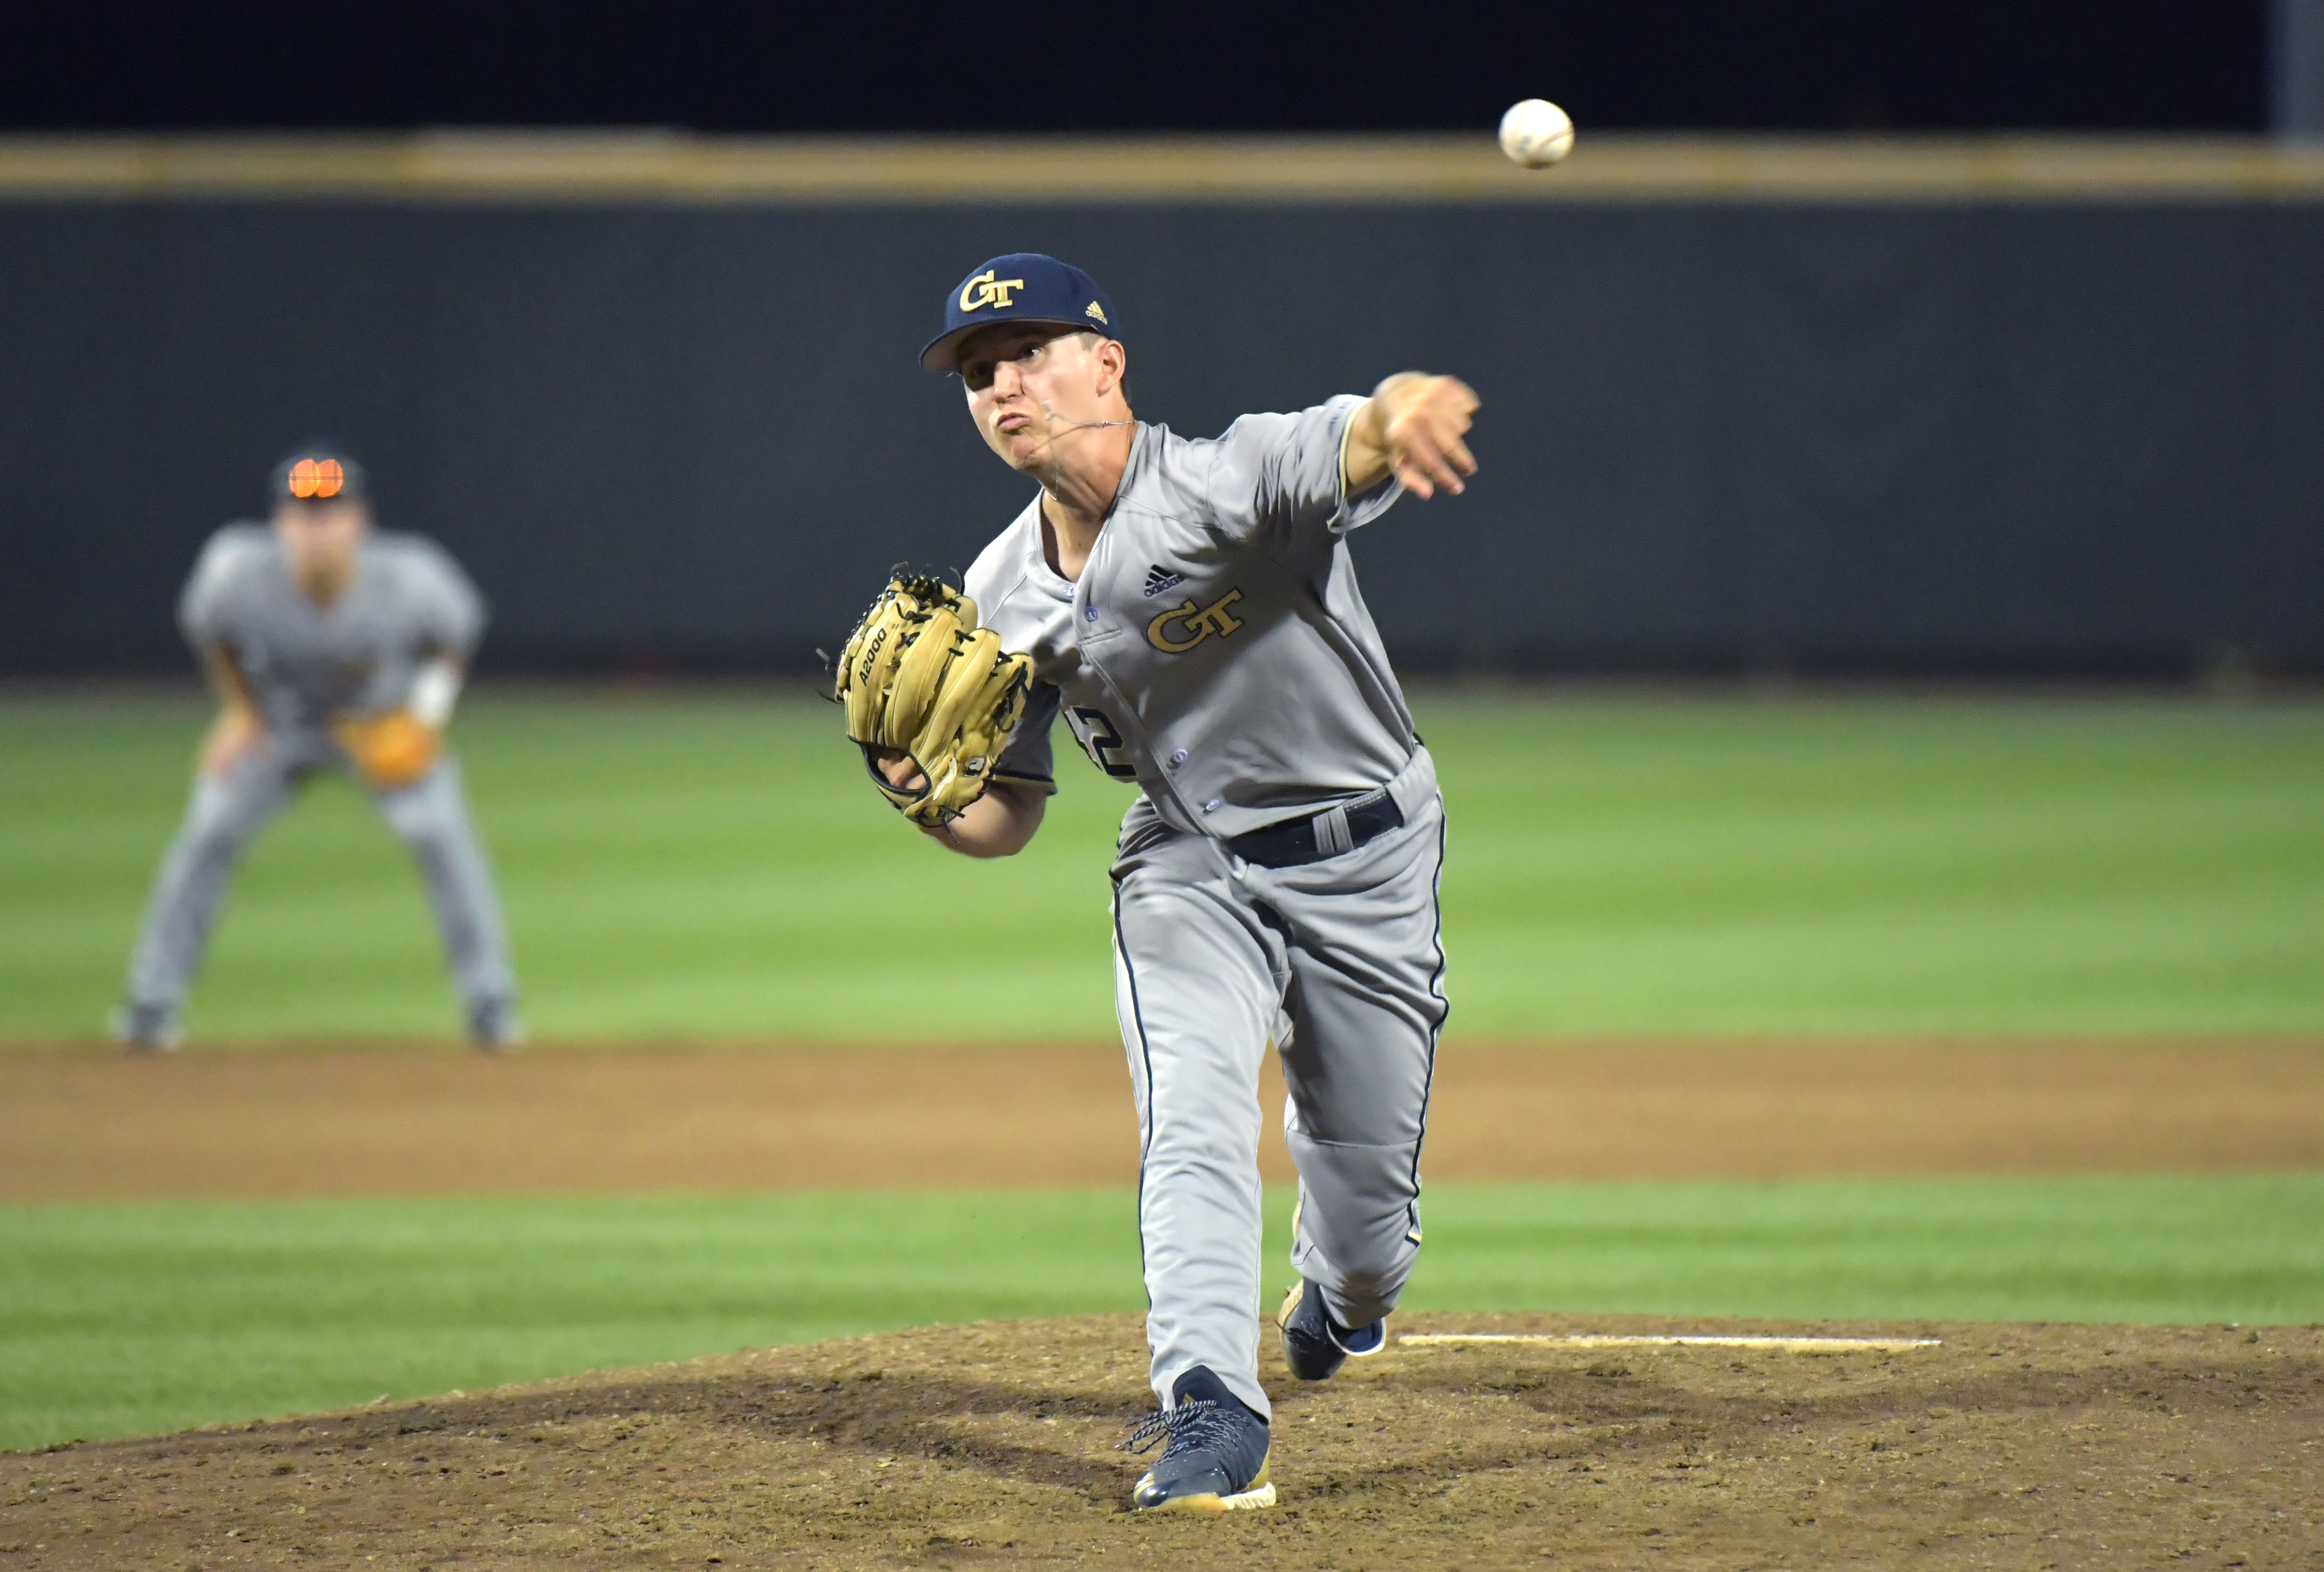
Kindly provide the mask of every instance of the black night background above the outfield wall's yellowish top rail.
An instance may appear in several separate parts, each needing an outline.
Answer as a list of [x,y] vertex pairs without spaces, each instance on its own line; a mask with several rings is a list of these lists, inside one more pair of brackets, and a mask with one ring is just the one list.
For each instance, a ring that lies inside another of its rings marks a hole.
[[2266,0],[12,0],[0,126],[2259,130]]

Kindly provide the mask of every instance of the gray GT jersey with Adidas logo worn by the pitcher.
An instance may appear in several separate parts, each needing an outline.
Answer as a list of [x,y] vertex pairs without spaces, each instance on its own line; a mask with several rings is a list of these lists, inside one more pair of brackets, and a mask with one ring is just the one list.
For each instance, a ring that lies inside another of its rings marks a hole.
[[1346,533],[1401,495],[1343,500],[1360,398],[1250,414],[1208,442],[1139,426],[1078,581],[1041,551],[1041,502],[967,593],[1034,693],[997,772],[1053,779],[1062,714],[1090,760],[1176,830],[1232,837],[1390,781],[1413,716],[1355,586]]

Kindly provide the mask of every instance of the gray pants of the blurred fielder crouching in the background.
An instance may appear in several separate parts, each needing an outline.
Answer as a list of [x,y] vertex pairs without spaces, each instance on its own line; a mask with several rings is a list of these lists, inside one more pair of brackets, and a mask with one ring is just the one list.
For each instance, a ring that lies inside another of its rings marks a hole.
[[[323,737],[267,735],[225,774],[195,777],[193,802],[163,856],[130,958],[130,1005],[184,1007],[244,846],[284,809],[300,781],[316,770],[344,767],[344,753]],[[509,939],[493,867],[460,793],[458,760],[449,753],[437,758],[411,786],[372,793],[372,805],[418,863],[460,1002],[469,1012],[511,1002]]]

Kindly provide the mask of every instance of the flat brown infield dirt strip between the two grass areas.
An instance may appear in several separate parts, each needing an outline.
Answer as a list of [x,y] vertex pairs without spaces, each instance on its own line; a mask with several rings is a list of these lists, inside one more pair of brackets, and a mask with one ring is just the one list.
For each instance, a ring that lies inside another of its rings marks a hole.
[[[2236,1042],[1448,1044],[1427,1149],[1434,1179],[2317,1165],[2324,1044]],[[1134,1179],[1118,1049],[0,1053],[0,1200]]]

